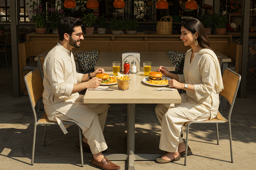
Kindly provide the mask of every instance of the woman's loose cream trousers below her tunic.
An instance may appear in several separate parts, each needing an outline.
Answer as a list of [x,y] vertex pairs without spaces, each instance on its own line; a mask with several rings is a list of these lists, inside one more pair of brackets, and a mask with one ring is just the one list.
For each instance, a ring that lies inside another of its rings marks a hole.
[[[188,117],[176,107],[169,109],[158,104],[155,107],[155,113],[162,127],[159,149],[167,152],[178,151],[178,144],[183,142],[181,138],[181,127],[184,123],[190,121]],[[211,114],[206,113],[194,119],[194,121],[204,121],[210,119]]]

